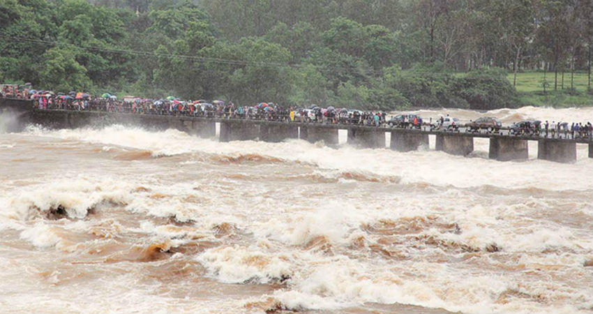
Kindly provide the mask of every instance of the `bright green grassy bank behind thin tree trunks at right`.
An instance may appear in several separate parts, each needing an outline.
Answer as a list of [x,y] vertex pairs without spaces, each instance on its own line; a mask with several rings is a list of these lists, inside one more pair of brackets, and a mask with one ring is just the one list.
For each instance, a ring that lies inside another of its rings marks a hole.
[[[513,84],[513,73],[507,76]],[[575,73],[574,89],[571,87],[570,73],[564,73],[564,87],[562,74],[558,73],[557,89],[554,90],[554,73],[546,73],[548,87],[543,91],[543,72],[517,73],[516,90],[522,105],[574,107],[593,106],[593,95],[587,93],[587,73]]]

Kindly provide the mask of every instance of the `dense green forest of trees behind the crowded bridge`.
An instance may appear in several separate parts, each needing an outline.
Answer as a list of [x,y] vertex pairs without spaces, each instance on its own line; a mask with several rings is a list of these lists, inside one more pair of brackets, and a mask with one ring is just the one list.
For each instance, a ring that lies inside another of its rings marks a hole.
[[490,109],[590,73],[593,2],[0,0],[0,30],[0,81],[55,91]]

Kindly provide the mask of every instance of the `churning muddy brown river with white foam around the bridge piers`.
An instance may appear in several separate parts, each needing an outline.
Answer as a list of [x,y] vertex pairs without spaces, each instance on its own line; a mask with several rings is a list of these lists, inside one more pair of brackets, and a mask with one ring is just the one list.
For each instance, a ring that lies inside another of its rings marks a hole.
[[[593,120],[593,109],[483,115]],[[425,118],[425,119],[426,119]],[[340,142],[345,142],[340,132]],[[0,313],[593,313],[593,159],[0,133]]]

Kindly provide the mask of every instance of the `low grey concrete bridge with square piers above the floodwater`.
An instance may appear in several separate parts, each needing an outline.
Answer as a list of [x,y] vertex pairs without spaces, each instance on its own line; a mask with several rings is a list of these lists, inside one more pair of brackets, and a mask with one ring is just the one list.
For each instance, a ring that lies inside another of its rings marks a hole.
[[[8,109],[10,108],[10,109]],[[389,127],[359,126],[349,124],[316,124],[301,122],[265,121],[254,119],[224,119],[156,114],[130,114],[74,110],[37,110],[28,100],[0,98],[0,112],[17,112],[24,123],[34,123],[50,128],[80,128],[109,124],[132,124],[155,130],[174,128],[199,137],[215,138],[216,124],[220,125],[218,140],[261,140],[282,142],[301,139],[309,142],[324,141],[329,146],[338,145],[338,130],[347,130],[347,142],[361,148],[386,148],[386,133],[391,133],[389,148],[395,151],[414,151],[428,146],[428,136],[435,135],[435,148],[447,154],[467,156],[474,151],[474,137],[490,140],[489,157],[500,161],[526,160],[529,156],[527,141],[538,142],[537,157],[560,163],[576,160],[576,144],[589,145],[593,158],[593,142],[587,139],[565,139],[539,136],[511,136],[492,133],[444,132]]]

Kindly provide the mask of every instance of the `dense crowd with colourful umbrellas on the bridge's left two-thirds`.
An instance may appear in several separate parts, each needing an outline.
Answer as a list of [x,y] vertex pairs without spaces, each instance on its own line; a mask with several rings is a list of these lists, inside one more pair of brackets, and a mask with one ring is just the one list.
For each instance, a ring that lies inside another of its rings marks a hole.
[[385,112],[364,112],[361,110],[322,108],[317,105],[296,107],[275,103],[259,103],[254,106],[240,106],[222,100],[181,100],[170,96],[163,99],[124,97],[118,99],[111,94],[91,96],[82,92],[55,94],[53,91],[35,89],[13,89],[4,87],[3,94],[11,98],[35,101],[40,110],[91,110],[133,114],[160,114],[186,117],[212,117],[227,119],[261,119],[269,121],[297,121],[324,124],[359,124],[382,126]]

